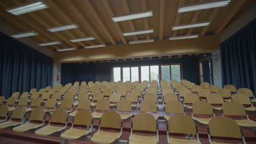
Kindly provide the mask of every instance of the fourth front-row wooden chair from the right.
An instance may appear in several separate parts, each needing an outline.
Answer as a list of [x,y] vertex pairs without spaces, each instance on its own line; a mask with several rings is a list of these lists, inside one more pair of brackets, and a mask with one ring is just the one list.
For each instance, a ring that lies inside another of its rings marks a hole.
[[[103,131],[104,128],[119,129],[119,132]],[[101,122],[97,133],[91,137],[91,141],[95,143],[112,143],[118,140],[122,134],[121,117],[117,112],[106,112],[101,117]]]

